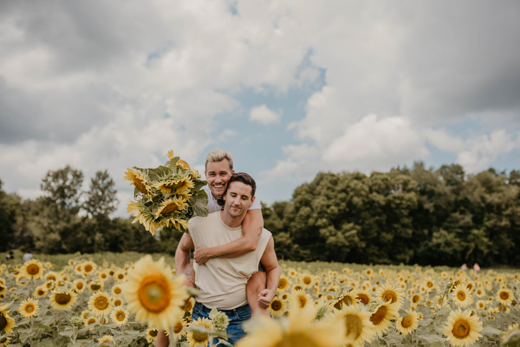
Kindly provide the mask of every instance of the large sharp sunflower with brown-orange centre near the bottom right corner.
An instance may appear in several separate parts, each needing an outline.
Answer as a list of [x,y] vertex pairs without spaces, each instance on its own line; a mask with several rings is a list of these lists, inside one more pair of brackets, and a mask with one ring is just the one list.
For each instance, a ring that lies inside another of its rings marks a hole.
[[482,337],[482,322],[477,315],[471,315],[471,310],[451,311],[448,322],[444,326],[443,333],[447,336],[446,340],[456,347],[469,346]]

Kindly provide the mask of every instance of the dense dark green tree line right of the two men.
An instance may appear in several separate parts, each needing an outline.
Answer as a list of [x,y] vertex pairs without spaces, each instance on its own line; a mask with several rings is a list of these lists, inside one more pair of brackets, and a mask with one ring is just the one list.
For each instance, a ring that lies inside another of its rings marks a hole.
[[322,172],[264,206],[277,255],[374,264],[520,265],[520,172],[443,165]]

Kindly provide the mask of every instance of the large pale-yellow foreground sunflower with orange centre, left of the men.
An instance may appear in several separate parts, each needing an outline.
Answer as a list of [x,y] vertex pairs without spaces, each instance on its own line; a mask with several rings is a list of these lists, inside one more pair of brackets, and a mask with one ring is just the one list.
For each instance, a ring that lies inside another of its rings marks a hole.
[[189,298],[182,285],[184,276],[173,277],[164,258],[153,262],[150,255],[142,257],[128,272],[128,282],[122,285],[127,308],[136,319],[167,330],[183,317],[184,302]]

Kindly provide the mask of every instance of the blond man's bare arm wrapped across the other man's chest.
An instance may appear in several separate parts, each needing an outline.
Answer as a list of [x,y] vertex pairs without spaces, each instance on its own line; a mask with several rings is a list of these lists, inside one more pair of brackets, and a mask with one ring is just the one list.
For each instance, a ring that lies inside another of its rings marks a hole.
[[222,246],[208,248],[198,245],[193,252],[193,258],[197,264],[202,265],[211,258],[240,257],[256,249],[263,229],[264,218],[262,210],[259,208],[248,210],[242,222],[242,237]]

